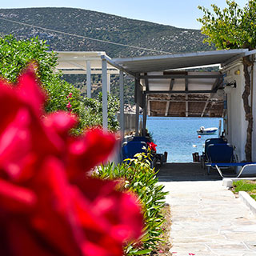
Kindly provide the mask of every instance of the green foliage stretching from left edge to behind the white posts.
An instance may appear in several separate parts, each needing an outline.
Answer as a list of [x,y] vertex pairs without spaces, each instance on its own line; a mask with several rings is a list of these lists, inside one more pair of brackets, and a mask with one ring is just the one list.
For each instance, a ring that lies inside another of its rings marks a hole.
[[[82,133],[84,127],[102,126],[102,96],[98,99],[83,99],[80,91],[72,84],[62,79],[62,74],[56,71],[57,54],[47,51],[46,41],[38,38],[30,40],[17,40],[12,35],[0,38],[0,76],[10,82],[16,82],[18,74],[30,62],[38,64],[37,75],[42,87],[48,94],[46,112],[56,110],[68,110],[70,102],[72,112],[78,114],[80,122],[73,130],[74,134]],[[71,95],[71,96],[70,96]],[[116,113],[118,111],[118,99],[109,95],[109,129],[118,130]]]

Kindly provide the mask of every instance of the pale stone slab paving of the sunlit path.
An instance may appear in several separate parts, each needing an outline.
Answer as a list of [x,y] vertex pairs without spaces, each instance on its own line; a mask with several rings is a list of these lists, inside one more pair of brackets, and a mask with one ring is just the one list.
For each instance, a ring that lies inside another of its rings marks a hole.
[[170,192],[174,256],[256,255],[256,216],[222,181],[159,183]]

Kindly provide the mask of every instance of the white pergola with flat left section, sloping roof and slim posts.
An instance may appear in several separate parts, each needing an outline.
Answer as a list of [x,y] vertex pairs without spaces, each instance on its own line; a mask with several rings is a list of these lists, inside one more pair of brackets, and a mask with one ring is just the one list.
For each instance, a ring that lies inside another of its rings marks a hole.
[[[221,74],[175,74],[176,69],[198,66],[226,66],[251,54],[247,49],[214,50],[186,54],[168,54],[135,58],[109,58],[105,52],[57,52],[58,70],[63,74],[86,74],[87,96],[90,98],[90,74],[102,74],[103,128],[107,128],[107,91],[110,90],[110,74],[119,74],[120,82],[120,126],[124,133],[123,73],[134,77],[136,102],[136,127],[138,134],[139,107],[143,109],[143,130],[146,129],[146,97],[154,94],[216,94],[222,86]],[[109,85],[109,86],[108,86]],[[150,97],[148,97],[150,98]],[[184,97],[185,98],[185,97]],[[168,103],[169,102],[169,103]],[[170,100],[166,99],[166,106]],[[166,107],[167,109],[167,107]]]

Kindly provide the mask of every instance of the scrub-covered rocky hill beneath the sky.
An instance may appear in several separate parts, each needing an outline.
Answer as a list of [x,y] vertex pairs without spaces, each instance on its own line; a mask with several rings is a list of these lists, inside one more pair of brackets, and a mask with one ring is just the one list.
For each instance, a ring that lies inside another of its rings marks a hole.
[[[0,18],[25,22],[69,34],[106,40],[130,46],[162,50],[171,53],[210,50],[203,44],[200,30],[181,29],[130,18],[122,18],[91,10],[74,8],[0,9]],[[46,40],[50,50],[106,51],[111,58],[159,54],[147,50],[116,46],[86,38],[49,32],[0,19],[0,34],[14,34],[16,38]]]

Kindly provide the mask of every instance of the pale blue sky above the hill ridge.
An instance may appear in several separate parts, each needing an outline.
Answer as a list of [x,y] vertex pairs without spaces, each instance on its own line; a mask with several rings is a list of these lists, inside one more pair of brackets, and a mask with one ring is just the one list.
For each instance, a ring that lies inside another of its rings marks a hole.
[[[239,6],[248,0],[236,0]],[[74,7],[115,14],[160,24],[200,29],[196,18],[202,17],[198,6],[210,7],[211,3],[225,7],[225,0],[2,0],[0,8],[24,7]]]

